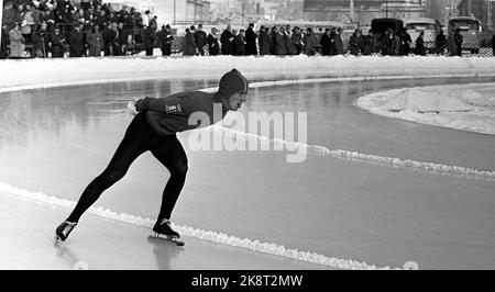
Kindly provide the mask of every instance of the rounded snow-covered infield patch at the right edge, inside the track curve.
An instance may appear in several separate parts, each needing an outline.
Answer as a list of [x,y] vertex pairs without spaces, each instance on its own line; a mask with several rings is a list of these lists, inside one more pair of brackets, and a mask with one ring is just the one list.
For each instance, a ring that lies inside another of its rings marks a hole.
[[428,125],[495,134],[495,83],[436,86],[375,92],[358,106]]

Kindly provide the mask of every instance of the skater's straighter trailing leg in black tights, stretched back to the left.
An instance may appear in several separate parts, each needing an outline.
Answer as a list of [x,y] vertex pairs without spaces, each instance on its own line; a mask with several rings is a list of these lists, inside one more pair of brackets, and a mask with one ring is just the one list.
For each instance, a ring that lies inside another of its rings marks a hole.
[[150,149],[150,137],[147,134],[147,121],[143,116],[134,117],[125,132],[125,136],[116,150],[108,167],[86,187],[76,207],[68,216],[68,222],[79,222],[80,216],[88,210],[101,193],[122,179],[131,164],[144,151]]

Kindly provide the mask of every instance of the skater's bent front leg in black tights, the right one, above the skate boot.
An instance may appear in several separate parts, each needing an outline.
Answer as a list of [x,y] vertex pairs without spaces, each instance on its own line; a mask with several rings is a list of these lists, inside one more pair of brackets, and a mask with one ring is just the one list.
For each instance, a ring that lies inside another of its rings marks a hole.
[[152,154],[170,172],[170,178],[168,179],[165,190],[163,191],[162,206],[158,214],[160,222],[164,218],[170,218],[172,211],[174,210],[186,181],[188,165],[186,151],[175,135],[169,136],[169,138],[152,149]]

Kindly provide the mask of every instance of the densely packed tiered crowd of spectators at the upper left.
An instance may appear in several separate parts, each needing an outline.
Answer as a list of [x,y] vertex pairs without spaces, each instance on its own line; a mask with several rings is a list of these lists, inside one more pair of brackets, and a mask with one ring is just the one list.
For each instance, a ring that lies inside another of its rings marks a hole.
[[[116,11],[101,0],[8,0],[3,7],[0,58],[129,55],[172,30],[157,33],[157,16],[132,7]],[[148,48],[147,48],[148,49]]]

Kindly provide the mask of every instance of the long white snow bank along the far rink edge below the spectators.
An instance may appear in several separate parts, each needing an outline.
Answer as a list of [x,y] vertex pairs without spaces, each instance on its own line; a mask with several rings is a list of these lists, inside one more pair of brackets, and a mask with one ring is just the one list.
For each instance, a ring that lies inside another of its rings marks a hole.
[[323,75],[324,77],[447,77],[493,76],[495,58],[460,57],[108,57],[67,59],[1,60],[2,87],[52,85],[82,81],[119,81],[184,76],[218,78],[238,68],[248,77],[264,75]]

